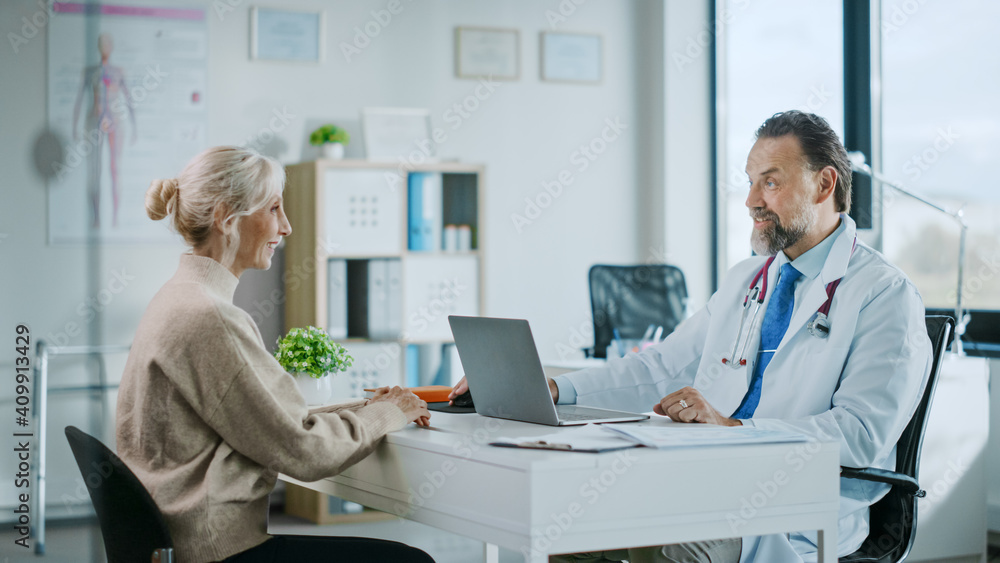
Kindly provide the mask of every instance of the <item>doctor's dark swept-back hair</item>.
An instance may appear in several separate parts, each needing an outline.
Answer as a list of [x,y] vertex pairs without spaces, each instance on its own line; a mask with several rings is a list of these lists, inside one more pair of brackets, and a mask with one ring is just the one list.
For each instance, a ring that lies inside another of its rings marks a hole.
[[837,133],[822,117],[798,110],[776,113],[757,129],[757,139],[795,135],[802,146],[809,169],[816,172],[827,166],[837,171],[833,190],[837,211],[851,210],[851,162]]

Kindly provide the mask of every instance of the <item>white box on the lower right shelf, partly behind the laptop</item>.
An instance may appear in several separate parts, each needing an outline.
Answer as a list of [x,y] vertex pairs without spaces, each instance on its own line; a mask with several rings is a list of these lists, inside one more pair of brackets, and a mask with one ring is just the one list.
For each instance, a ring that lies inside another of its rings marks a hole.
[[475,255],[408,255],[403,260],[403,335],[410,341],[451,341],[448,315],[479,314]]

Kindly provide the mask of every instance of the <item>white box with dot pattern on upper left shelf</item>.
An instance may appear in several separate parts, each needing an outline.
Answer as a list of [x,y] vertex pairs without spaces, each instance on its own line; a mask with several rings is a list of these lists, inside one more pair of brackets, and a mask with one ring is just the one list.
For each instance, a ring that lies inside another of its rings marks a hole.
[[327,252],[391,255],[403,251],[402,180],[390,170],[331,169],[323,175]]

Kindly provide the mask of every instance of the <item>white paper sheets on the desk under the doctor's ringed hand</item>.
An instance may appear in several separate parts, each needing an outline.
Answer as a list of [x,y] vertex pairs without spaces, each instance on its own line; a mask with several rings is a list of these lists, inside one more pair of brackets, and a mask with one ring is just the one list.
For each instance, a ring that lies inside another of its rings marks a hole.
[[782,430],[762,430],[748,427],[709,425],[635,426],[606,425],[601,430],[625,437],[636,444],[650,448],[691,448],[740,444],[777,444],[805,442],[802,434]]

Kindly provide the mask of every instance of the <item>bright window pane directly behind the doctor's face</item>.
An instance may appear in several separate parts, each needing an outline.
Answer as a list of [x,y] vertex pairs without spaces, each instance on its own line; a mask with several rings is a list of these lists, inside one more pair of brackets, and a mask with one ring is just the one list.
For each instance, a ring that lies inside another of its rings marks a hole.
[[841,0],[720,0],[717,13],[726,24],[718,57],[721,276],[751,255],[745,167],[761,123],[799,109],[823,116],[843,138],[844,48]]

